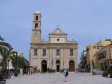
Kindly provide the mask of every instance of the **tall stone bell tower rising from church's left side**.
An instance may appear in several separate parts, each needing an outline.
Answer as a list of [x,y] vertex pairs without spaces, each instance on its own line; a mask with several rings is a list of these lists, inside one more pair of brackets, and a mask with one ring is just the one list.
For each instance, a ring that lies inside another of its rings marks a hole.
[[33,14],[33,28],[31,43],[38,43],[41,41],[41,13],[36,11]]

